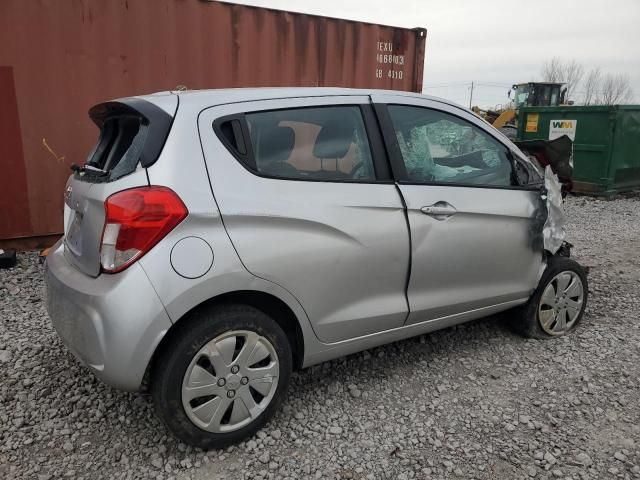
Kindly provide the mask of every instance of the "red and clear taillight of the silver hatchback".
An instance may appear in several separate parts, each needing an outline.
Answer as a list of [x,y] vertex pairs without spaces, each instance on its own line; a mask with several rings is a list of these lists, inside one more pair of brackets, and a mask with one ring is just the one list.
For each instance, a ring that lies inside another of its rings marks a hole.
[[166,187],[140,187],[114,193],[104,202],[100,246],[102,270],[116,273],[142,257],[189,213]]

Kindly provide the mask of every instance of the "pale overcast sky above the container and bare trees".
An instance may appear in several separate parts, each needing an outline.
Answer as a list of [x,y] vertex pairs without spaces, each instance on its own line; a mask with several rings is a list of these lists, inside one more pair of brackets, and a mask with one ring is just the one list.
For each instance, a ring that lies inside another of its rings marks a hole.
[[[425,93],[469,104],[507,101],[558,56],[626,73],[640,101],[640,0],[234,0],[303,13],[425,27]],[[579,89],[578,89],[579,90]]]

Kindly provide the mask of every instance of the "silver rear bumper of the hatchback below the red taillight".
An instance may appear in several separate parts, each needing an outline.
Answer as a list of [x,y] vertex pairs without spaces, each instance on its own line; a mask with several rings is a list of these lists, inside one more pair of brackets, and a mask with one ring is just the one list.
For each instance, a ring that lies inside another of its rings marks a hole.
[[138,390],[171,326],[142,267],[92,278],[69,264],[59,241],[45,276],[49,317],[69,350],[104,383]]

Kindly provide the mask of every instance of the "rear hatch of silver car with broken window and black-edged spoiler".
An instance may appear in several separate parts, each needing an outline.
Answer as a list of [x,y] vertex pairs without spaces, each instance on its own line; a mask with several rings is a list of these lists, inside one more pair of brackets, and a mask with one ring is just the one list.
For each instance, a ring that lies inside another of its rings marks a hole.
[[100,129],[83,166],[74,165],[64,192],[65,256],[78,270],[100,274],[105,200],[148,185],[146,168],[160,155],[178,107],[175,95],[153,100],[134,97],[101,103],[89,110]]

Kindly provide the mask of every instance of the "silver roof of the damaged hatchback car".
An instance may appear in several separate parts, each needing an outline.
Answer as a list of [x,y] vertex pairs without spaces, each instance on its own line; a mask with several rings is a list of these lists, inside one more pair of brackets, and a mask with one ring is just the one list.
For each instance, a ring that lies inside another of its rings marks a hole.
[[149,101],[154,97],[167,95],[178,95],[180,104],[191,104],[193,107],[208,107],[223,105],[227,103],[238,103],[259,100],[274,100],[280,98],[300,98],[300,97],[328,97],[328,96],[364,96],[364,95],[394,95],[400,97],[413,97],[430,99],[441,103],[446,103],[458,108],[460,105],[438,97],[423,95],[414,92],[400,90],[377,90],[377,89],[357,89],[340,87],[262,87],[262,88],[221,88],[210,90],[182,90],[157,92],[150,95],[140,95]]

